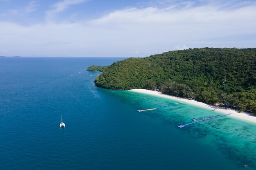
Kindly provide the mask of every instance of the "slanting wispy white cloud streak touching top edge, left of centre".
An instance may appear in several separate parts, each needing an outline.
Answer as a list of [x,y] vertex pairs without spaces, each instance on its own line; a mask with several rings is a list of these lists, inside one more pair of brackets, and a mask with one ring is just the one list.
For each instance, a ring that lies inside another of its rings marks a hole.
[[63,0],[52,5],[53,9],[46,12],[46,17],[51,18],[55,14],[60,13],[68,8],[70,5],[81,4],[87,0]]

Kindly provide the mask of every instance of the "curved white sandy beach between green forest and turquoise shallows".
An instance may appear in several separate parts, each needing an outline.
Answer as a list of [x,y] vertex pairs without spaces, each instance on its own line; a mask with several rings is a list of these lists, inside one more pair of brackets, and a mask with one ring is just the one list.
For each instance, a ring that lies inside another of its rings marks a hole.
[[205,104],[205,103],[202,103],[202,102],[197,102],[195,100],[183,99],[183,98],[174,97],[174,96],[171,96],[171,95],[164,95],[161,92],[150,91],[150,90],[146,90],[146,89],[132,89],[130,91],[137,92],[137,93],[144,93],[144,94],[148,94],[148,95],[159,96],[159,97],[164,97],[164,98],[167,98],[167,99],[173,99],[173,100],[177,100],[177,101],[180,101],[180,102],[186,102],[188,104],[192,104],[192,105],[195,105],[195,106],[200,106],[200,107],[203,107],[203,108],[209,108],[210,110],[215,109],[215,111],[218,111],[218,112],[224,113],[224,114],[232,113],[229,116],[235,117],[237,119],[242,119],[242,120],[245,120],[245,121],[256,123],[256,117],[252,116],[251,114],[246,113],[246,112],[238,113],[236,110],[220,108],[218,106],[213,106],[213,105]]

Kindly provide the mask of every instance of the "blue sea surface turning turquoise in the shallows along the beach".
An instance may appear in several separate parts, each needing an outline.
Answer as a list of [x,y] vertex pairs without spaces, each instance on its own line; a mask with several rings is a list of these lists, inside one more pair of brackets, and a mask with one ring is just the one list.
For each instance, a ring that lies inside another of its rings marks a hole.
[[0,58],[0,170],[256,170],[256,124],[94,86],[123,59]]

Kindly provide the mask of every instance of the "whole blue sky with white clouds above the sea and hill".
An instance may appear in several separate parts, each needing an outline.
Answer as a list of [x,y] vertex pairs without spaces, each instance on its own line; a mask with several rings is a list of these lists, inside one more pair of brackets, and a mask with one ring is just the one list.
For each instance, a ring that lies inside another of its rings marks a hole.
[[255,48],[256,0],[0,0],[0,56]]

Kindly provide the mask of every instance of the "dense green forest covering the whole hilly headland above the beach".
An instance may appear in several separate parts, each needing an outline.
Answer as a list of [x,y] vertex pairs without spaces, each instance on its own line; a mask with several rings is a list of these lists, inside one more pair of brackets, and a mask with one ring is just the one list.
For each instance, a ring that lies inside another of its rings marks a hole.
[[256,48],[188,49],[128,58],[104,69],[95,84],[115,90],[158,87],[165,94],[256,114]]

